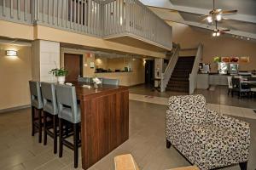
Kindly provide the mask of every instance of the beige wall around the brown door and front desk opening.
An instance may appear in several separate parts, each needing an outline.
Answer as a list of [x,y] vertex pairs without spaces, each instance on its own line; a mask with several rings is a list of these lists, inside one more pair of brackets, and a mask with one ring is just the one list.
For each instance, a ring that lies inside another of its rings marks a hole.
[[[82,54],[83,55],[83,77],[105,77],[105,78],[117,78],[120,80],[120,84],[124,86],[133,86],[136,84],[142,84],[145,82],[145,68],[143,65],[143,59],[107,59],[106,57],[97,57],[95,54],[88,56],[88,52],[73,48],[61,48],[61,67],[64,66],[64,54]],[[125,62],[124,62],[125,60]],[[95,62],[95,68],[90,68],[90,62]],[[131,72],[122,73],[97,73],[95,74],[96,67],[108,69],[112,71],[115,69],[124,70],[124,67],[130,65]]]

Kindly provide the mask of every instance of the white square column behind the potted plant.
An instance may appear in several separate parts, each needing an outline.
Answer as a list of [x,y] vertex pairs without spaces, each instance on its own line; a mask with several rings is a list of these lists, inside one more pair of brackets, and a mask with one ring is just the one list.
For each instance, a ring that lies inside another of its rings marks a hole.
[[60,42],[36,40],[32,42],[32,79],[56,82],[49,71],[60,68]]

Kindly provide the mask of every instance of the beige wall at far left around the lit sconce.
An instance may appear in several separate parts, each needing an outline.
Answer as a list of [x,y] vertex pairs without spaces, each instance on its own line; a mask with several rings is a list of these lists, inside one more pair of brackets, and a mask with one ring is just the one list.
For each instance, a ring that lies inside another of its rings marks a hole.
[[[7,49],[17,50],[18,57],[6,56]],[[31,70],[30,47],[0,44],[0,110],[30,104]]]

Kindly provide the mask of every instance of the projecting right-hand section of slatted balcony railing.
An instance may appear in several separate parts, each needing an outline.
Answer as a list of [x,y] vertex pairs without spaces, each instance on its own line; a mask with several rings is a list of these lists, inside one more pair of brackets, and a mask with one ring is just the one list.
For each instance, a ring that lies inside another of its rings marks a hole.
[[172,27],[138,0],[103,2],[104,37],[131,36],[172,49]]

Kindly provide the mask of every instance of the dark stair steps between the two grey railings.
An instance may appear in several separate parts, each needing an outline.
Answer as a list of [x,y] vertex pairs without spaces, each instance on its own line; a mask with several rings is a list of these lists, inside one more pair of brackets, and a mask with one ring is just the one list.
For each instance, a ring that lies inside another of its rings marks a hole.
[[189,74],[194,65],[195,56],[178,57],[166,91],[189,93]]

